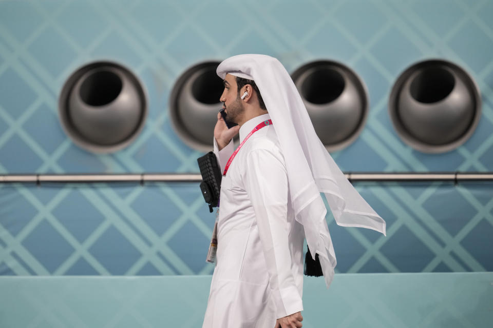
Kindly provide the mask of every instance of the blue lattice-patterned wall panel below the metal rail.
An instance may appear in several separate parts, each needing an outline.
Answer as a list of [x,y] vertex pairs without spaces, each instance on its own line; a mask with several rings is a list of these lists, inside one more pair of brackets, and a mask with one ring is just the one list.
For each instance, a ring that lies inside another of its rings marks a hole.
[[[359,184],[387,237],[327,217],[337,272],[493,271],[492,184]],[[210,274],[214,214],[196,183],[4,186],[2,275]]]

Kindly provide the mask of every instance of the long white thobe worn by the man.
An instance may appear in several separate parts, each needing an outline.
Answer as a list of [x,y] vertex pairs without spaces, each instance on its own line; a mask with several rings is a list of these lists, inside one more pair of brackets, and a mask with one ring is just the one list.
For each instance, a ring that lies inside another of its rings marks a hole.
[[[269,114],[240,128],[243,140]],[[214,152],[221,172],[233,141]],[[303,227],[294,218],[275,122],[255,132],[222,177],[216,267],[203,328],[273,328],[303,310]]]

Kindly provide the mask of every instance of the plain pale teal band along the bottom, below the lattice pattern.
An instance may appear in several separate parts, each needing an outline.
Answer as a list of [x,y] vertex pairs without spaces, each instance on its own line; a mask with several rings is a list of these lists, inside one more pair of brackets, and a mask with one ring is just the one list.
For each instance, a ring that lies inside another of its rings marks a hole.
[[[493,273],[336,274],[327,290],[307,278],[303,328],[486,328],[492,282]],[[0,326],[195,328],[210,284],[210,276],[0,277]]]

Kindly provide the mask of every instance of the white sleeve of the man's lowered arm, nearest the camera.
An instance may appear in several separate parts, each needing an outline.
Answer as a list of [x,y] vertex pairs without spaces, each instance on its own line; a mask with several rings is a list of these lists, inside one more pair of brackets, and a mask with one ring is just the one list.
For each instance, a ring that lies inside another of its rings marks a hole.
[[243,179],[257,219],[277,318],[302,311],[301,295],[291,272],[288,176],[282,155],[266,149],[250,152]]

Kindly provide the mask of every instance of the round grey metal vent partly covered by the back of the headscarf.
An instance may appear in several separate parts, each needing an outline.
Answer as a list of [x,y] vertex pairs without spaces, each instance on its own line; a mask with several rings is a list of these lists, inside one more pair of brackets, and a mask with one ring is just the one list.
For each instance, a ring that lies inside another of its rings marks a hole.
[[319,60],[301,66],[291,77],[328,151],[356,140],[368,114],[368,92],[356,73],[335,61]]

